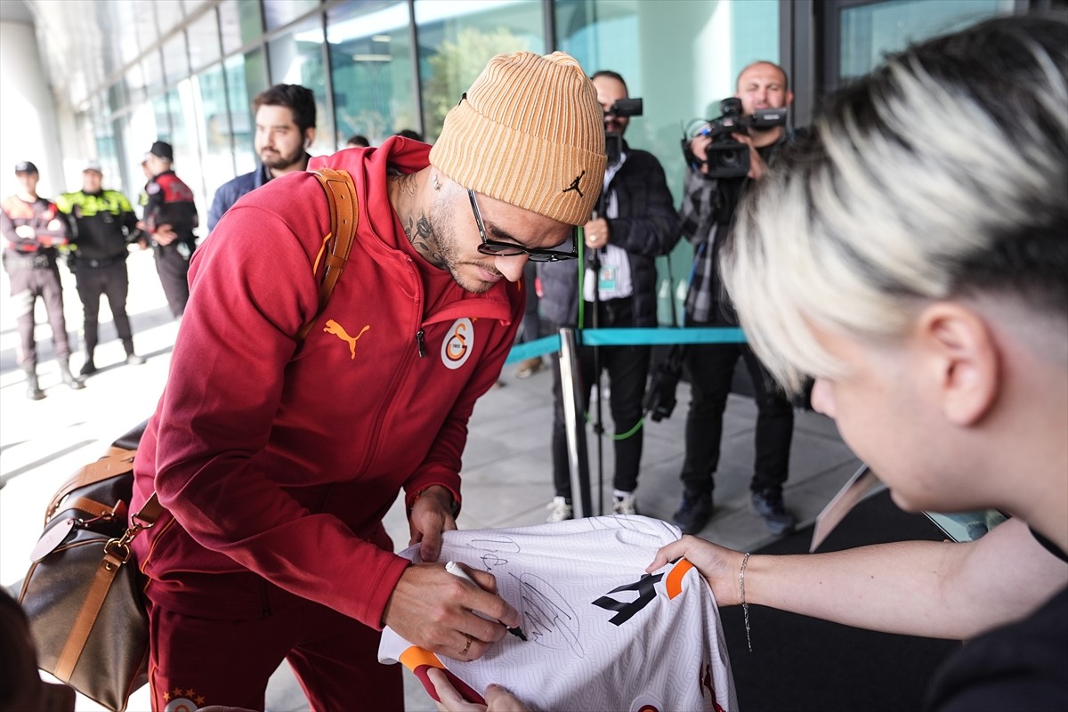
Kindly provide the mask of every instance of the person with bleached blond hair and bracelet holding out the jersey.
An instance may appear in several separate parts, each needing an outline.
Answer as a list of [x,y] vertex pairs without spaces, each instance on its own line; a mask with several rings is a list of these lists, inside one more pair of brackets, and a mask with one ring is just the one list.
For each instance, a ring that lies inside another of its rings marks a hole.
[[[813,407],[898,506],[1012,518],[971,542],[801,555],[684,536],[646,569],[685,557],[718,605],[742,606],[747,636],[749,607],[771,606],[965,640],[928,711],[1068,709],[1066,36],[1063,16],[990,19],[824,97],[720,262],[761,363],[791,393],[815,379]],[[758,616],[754,643],[774,648],[761,662],[791,660],[800,648]],[[487,709],[428,678],[445,709]],[[766,707],[797,709],[780,690]],[[485,698],[527,709],[499,687]]]

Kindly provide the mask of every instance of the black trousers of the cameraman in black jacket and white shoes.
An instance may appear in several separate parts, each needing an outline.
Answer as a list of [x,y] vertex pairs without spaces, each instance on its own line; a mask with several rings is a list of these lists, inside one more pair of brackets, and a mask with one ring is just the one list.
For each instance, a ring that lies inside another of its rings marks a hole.
[[[585,305],[586,326],[591,327],[593,304]],[[597,313],[600,328],[633,327],[633,312],[630,299],[612,299],[600,303]],[[614,424],[615,473],[612,487],[624,492],[638,489],[638,473],[642,460],[642,438],[644,428],[618,439],[630,431],[642,418],[642,398],[645,396],[645,381],[649,375],[649,346],[601,346],[600,369],[608,374],[610,386],[609,407]],[[582,409],[590,411],[591,422],[595,414],[590,405],[590,391],[597,380],[593,347],[579,348],[579,369],[582,393]],[[567,427],[564,422],[563,390],[560,383],[560,355],[552,360],[553,373],[553,420],[552,420],[552,480],[556,496],[571,499],[570,462],[567,456]],[[598,395],[599,397],[599,395]],[[594,406],[596,408],[596,405]]]

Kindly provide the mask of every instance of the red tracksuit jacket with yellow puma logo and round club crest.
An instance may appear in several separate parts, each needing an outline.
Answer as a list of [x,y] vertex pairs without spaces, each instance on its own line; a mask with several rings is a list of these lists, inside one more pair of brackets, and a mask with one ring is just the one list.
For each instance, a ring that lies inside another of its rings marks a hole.
[[157,604],[247,618],[295,595],[381,628],[408,566],[383,515],[402,488],[410,502],[443,485],[459,501],[467,422],[523,298],[504,281],[464,291],[408,243],[387,164],[415,172],[427,153],[390,140],[313,160],[351,173],[359,225],[299,348],[330,228],[313,175],[245,195],[194,253],[170,377],[135,462],[130,510],[155,489],[169,512],[135,540]]

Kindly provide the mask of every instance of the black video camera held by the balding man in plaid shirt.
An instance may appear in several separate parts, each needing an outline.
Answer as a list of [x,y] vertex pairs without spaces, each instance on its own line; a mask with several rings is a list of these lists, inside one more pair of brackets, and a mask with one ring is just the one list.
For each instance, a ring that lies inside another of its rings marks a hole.
[[[729,97],[720,102],[721,116],[709,118],[697,132],[682,137],[682,155],[687,163],[700,169],[708,163],[709,178],[741,178],[749,173],[749,146],[735,140],[732,133],[749,133],[749,129],[766,129],[786,125],[786,108],[757,109],[749,116],[741,113],[741,99]],[[706,161],[697,158],[690,148],[690,141],[698,136],[707,136],[712,142],[705,152]]]

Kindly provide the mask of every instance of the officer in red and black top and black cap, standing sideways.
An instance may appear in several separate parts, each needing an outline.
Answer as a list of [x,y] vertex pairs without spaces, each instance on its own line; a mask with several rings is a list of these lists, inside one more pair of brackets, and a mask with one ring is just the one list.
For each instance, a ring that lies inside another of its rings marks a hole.
[[193,231],[199,224],[193,192],[171,169],[174,149],[156,141],[145,156],[152,178],[145,186],[148,201],[144,206],[144,230],[152,236],[156,271],[174,318],[186,311],[189,301],[189,257],[197,247]]

